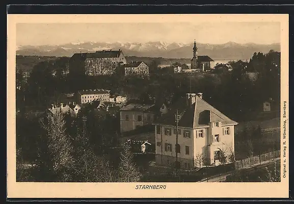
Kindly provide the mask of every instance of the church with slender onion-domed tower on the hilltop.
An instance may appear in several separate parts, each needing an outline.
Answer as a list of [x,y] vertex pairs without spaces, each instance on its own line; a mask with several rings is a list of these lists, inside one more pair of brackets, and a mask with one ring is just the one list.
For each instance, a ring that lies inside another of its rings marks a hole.
[[213,67],[212,60],[207,55],[200,55],[198,56],[198,48],[196,45],[196,41],[194,41],[194,47],[193,47],[193,58],[191,59],[191,69],[195,72],[204,72]]

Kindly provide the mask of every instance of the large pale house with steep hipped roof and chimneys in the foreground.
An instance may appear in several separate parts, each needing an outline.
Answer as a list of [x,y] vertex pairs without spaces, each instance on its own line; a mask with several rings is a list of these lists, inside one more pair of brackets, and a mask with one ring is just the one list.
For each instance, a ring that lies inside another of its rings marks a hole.
[[[178,111],[178,130],[176,130]],[[203,155],[202,165],[219,165],[221,153],[230,148],[234,152],[234,126],[237,122],[209,105],[202,93],[187,93],[171,106],[168,113],[156,119],[155,162],[159,165],[175,163],[176,133],[178,133],[178,162],[181,168],[199,167],[195,159]]]

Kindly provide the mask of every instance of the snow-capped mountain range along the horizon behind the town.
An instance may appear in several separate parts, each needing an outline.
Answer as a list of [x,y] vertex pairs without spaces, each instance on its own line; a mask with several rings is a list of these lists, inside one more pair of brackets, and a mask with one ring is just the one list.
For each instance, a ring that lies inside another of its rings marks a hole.
[[[192,43],[156,42],[72,42],[62,45],[23,45],[16,47],[16,55],[24,56],[67,56],[74,53],[91,53],[103,49],[121,49],[125,56],[162,57],[162,58],[192,58],[194,46]],[[250,59],[254,52],[268,53],[270,49],[280,52],[280,44],[225,44],[197,43],[198,55],[208,55],[212,59]]]

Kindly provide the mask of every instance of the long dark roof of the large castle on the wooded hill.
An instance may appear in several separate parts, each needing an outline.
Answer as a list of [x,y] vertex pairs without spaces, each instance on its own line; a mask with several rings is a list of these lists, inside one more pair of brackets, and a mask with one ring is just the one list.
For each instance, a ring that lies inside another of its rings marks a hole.
[[105,50],[96,51],[96,53],[75,53],[72,58],[80,58],[86,60],[88,58],[118,58],[122,50]]

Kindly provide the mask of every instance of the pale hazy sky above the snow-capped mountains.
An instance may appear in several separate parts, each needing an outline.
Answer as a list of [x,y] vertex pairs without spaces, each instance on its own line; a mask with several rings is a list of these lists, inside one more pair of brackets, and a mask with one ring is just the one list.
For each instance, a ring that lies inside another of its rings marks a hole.
[[280,42],[280,22],[17,23],[16,45],[71,42]]

